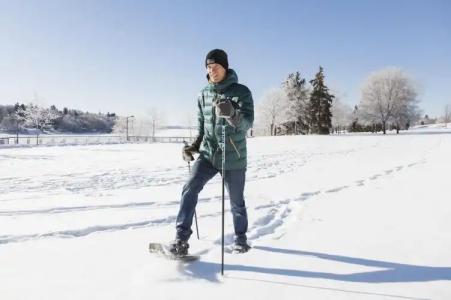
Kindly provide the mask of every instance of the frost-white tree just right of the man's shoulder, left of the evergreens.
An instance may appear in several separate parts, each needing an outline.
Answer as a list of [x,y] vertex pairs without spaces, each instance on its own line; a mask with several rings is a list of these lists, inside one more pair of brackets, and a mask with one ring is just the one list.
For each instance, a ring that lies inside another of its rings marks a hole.
[[291,121],[289,108],[290,103],[284,90],[280,88],[268,90],[256,107],[255,127],[263,128],[269,135],[276,135],[278,125]]

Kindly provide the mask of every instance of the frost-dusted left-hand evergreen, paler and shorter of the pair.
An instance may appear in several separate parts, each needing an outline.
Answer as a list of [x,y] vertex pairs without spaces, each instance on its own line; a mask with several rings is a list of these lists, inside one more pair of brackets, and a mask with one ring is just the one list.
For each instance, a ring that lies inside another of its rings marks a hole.
[[306,86],[305,78],[302,78],[299,72],[288,75],[288,78],[282,83],[288,101],[288,119],[294,122],[295,134],[308,133],[309,120],[309,94],[310,90]]

